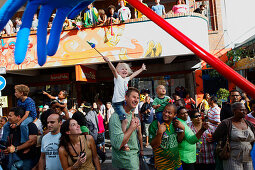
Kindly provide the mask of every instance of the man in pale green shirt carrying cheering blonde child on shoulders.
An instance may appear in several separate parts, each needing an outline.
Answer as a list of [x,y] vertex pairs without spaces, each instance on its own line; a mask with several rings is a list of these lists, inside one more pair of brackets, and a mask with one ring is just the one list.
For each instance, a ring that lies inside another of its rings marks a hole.
[[[113,113],[109,122],[109,133],[112,145],[112,165],[119,169],[139,169],[139,148],[136,129],[140,125],[139,119],[132,116],[132,110],[139,102],[139,91],[129,88],[125,96],[126,104],[123,105],[128,120],[127,130],[123,133],[121,121],[117,113]],[[121,148],[128,144],[130,151]]]

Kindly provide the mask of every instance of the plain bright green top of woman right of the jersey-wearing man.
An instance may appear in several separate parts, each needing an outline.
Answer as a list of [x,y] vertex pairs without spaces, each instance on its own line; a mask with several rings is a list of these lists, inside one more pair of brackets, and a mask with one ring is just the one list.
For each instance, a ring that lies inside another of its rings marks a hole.
[[196,143],[199,140],[184,120],[179,118],[178,120],[185,127],[184,139],[178,145],[181,160],[185,163],[194,163],[196,162]]

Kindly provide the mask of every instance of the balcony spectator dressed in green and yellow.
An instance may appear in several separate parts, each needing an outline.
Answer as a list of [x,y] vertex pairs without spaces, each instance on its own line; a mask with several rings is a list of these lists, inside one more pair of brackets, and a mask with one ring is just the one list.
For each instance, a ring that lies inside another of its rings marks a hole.
[[84,13],[84,26],[91,27],[98,23],[98,11],[93,4],[89,4],[88,9]]

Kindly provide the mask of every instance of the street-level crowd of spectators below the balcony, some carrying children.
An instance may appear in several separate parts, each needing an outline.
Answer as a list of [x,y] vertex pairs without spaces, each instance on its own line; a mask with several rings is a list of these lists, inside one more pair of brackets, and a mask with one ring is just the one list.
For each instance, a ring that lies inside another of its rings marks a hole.
[[68,110],[67,92],[61,90],[58,96],[43,91],[52,102],[36,108],[29,87],[15,86],[17,107],[0,119],[3,169],[101,169],[106,132],[112,165],[119,169],[139,169],[149,146],[148,163],[156,169],[253,169],[255,101],[245,93],[242,98],[232,90],[222,106],[206,93],[197,105],[182,87],[169,97],[158,85],[152,99],[148,90],[128,88],[146,70],[144,64],[132,72],[126,63],[114,67],[104,60],[114,75],[113,100],[106,105],[99,99]]

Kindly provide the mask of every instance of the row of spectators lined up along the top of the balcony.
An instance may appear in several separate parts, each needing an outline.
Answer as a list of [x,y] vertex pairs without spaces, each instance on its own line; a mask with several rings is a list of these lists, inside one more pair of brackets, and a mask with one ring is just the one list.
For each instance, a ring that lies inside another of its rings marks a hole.
[[[143,3],[143,0],[139,0]],[[145,6],[148,6],[146,3],[143,3]],[[165,11],[165,6],[160,4],[160,0],[155,0],[155,5],[151,6],[151,9],[158,15],[164,17],[167,13]],[[196,13],[203,14],[205,10],[205,5],[200,5],[199,8],[194,10]],[[173,6],[172,10],[168,13],[170,14],[181,14],[188,13],[189,7],[185,4],[184,0],[177,0],[176,5]],[[55,13],[52,14],[50,21],[48,23],[48,29],[52,27],[52,21],[54,20]],[[71,20],[66,18],[63,29],[81,29],[102,25],[112,25],[123,23],[128,21],[131,18],[143,18],[145,17],[139,10],[135,9],[134,16],[131,15],[130,7],[126,6],[125,0],[119,0],[118,6],[110,5],[106,9],[98,9],[93,6],[93,4],[89,4],[88,7],[81,12],[75,19]],[[13,33],[17,33],[22,24],[21,18],[16,17],[14,20],[9,20],[6,24],[4,30],[1,32],[2,34],[6,34],[10,36]],[[31,30],[36,31],[38,26],[38,18],[37,14],[34,15]]]

